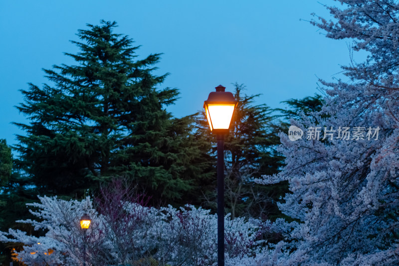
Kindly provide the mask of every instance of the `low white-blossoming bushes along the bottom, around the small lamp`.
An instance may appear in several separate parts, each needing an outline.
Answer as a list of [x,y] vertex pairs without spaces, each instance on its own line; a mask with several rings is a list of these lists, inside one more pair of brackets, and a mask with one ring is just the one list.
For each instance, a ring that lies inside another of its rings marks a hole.
[[[100,203],[111,207],[97,203],[99,211],[90,197],[82,201],[39,197],[39,203],[28,204],[37,219],[17,222],[31,224],[44,236],[9,229],[0,232],[0,241],[22,243],[23,250],[15,251],[16,259],[28,266],[82,266],[83,261],[90,266],[216,265],[215,214],[192,205],[146,207],[142,202],[125,202],[126,197],[120,195],[127,194],[105,191]],[[86,233],[79,224],[83,214],[92,220]],[[263,242],[256,233],[259,220],[227,215],[225,225],[226,265],[259,253]]]

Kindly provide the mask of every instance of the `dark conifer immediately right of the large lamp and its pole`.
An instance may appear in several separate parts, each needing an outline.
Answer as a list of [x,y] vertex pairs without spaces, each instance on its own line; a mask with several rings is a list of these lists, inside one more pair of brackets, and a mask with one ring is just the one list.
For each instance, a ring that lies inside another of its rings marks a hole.
[[275,151],[280,143],[273,132],[273,110],[265,104],[254,105],[259,95],[243,94],[235,84],[238,101],[232,118],[226,149],[226,203],[232,216],[246,215],[274,220],[281,215],[277,201],[288,192],[286,184],[259,185],[253,178],[277,173],[283,157]]

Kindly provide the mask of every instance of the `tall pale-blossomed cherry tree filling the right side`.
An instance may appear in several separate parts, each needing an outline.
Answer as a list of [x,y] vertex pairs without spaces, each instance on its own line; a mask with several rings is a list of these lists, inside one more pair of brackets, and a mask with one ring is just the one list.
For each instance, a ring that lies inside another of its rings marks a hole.
[[311,23],[368,57],[344,67],[349,82],[321,81],[322,110],[291,121],[302,138],[281,133],[287,165],[260,182],[289,181],[279,207],[296,222],[276,221],[285,240],[263,265],[399,264],[399,4],[337,2]]

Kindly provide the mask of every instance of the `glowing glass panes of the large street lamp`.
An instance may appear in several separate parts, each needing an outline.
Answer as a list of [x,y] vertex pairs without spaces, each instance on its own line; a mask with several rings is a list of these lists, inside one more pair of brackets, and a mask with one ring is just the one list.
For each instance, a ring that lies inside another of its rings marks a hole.
[[[235,104],[208,104],[207,112],[213,129],[226,129],[230,126]],[[209,118],[208,118],[209,121]]]

